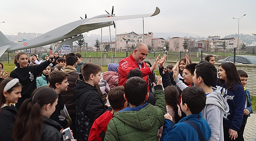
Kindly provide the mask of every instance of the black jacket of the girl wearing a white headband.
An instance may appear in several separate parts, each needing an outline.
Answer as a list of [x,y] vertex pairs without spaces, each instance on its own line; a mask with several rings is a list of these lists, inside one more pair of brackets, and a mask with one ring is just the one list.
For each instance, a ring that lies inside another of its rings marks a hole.
[[13,127],[18,110],[13,105],[2,108],[0,113],[0,141],[13,141]]

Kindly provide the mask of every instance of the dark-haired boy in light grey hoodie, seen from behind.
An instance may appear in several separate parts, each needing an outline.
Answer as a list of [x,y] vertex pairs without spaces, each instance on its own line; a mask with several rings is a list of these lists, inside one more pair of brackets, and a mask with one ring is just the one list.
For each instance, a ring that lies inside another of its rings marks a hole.
[[224,141],[223,112],[228,112],[229,107],[221,92],[211,85],[217,78],[217,69],[209,62],[196,65],[193,82],[196,87],[202,88],[206,93],[206,105],[202,110],[202,117],[211,127],[209,141]]

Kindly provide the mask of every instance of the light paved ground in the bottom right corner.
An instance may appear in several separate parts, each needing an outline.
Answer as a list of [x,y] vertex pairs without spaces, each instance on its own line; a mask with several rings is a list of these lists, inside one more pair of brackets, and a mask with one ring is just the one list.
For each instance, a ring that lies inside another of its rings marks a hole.
[[243,133],[245,141],[256,141],[256,114],[250,114]]

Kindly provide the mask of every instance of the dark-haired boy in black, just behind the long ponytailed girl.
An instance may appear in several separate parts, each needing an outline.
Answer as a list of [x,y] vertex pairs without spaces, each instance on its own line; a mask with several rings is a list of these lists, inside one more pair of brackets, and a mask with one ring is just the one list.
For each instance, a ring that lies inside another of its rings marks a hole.
[[61,92],[67,91],[69,85],[68,76],[69,74],[62,71],[53,71],[49,75],[49,87],[54,89],[59,96],[58,104],[50,119],[57,121],[64,129],[72,124],[72,120],[60,94]]

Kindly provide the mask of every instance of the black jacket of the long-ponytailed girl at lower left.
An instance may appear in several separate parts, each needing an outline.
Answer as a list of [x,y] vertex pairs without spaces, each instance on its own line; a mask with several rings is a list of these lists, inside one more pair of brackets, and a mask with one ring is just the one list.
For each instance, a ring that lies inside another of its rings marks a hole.
[[[44,126],[41,131],[40,141],[63,141],[63,136],[59,132],[63,128],[58,122],[44,116]],[[70,141],[67,139],[66,141]]]

